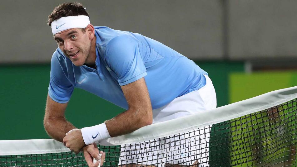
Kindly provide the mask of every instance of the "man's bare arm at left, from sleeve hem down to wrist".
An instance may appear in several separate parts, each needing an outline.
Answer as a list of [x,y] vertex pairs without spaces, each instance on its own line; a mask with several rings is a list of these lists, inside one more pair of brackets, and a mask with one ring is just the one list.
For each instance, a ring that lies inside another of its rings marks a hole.
[[53,139],[62,142],[65,134],[75,129],[75,127],[66,120],[65,110],[68,103],[57,103],[47,95],[47,104],[43,125],[47,134]]

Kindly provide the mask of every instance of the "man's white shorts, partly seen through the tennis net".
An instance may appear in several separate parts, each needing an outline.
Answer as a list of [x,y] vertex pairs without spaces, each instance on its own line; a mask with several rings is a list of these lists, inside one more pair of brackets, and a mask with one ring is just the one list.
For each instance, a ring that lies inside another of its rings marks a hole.
[[[215,89],[205,75],[206,84],[199,90],[175,98],[166,106],[153,110],[153,123],[199,113],[216,107]],[[151,141],[122,145],[119,165],[170,164],[209,166],[208,148],[210,126]]]

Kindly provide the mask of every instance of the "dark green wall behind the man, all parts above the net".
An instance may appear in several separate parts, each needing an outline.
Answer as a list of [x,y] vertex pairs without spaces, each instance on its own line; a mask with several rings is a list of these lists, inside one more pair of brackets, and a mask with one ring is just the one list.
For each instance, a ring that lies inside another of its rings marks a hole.
[[[215,86],[218,106],[228,103],[228,75],[243,71],[242,62],[199,61]],[[43,116],[50,74],[49,64],[0,66],[0,140],[49,138]],[[66,118],[78,128],[100,124],[124,109],[94,94],[75,89]]]

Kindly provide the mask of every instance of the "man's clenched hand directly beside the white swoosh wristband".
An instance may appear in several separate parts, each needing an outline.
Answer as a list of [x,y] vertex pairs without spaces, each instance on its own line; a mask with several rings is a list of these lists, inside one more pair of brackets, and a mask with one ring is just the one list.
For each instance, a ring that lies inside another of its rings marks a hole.
[[82,131],[80,129],[74,129],[63,138],[63,144],[76,154],[85,146],[85,142],[82,138]]

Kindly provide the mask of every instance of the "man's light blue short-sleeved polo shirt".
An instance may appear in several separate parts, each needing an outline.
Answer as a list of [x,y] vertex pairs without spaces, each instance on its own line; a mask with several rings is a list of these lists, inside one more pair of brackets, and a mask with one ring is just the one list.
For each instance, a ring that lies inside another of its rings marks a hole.
[[156,109],[206,83],[204,70],[158,41],[106,26],[95,27],[95,35],[97,69],[75,66],[59,48],[54,52],[48,88],[54,101],[67,103],[81,88],[128,109],[121,86],[144,77]]

